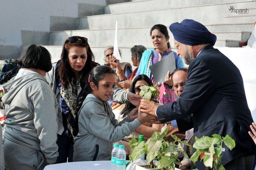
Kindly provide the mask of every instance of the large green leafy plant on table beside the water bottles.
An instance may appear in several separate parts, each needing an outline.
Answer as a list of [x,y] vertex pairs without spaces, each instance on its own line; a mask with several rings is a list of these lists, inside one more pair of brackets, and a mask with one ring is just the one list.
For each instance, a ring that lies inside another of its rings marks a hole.
[[[186,144],[189,147],[191,147],[191,145],[187,142],[181,141],[180,138],[175,135],[171,135],[175,139],[174,143],[165,141],[164,136],[167,134],[167,130],[168,128],[165,128],[161,134],[155,131],[147,142],[138,142],[133,136],[132,141],[129,142],[129,146],[131,148],[131,154],[129,155],[130,161],[135,161],[145,154],[147,155],[147,163],[150,165],[148,168],[174,170],[175,164],[180,165],[178,151],[181,151],[185,156],[188,156],[180,143]],[[158,161],[157,166],[154,164],[154,160]]]

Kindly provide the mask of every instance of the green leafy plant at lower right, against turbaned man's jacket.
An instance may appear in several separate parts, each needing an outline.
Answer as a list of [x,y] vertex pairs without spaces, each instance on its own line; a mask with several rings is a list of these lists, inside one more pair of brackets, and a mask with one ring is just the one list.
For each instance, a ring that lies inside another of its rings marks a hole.
[[222,148],[223,142],[230,150],[236,146],[235,141],[228,135],[221,137],[218,134],[213,134],[212,137],[195,137],[193,148],[196,148],[196,152],[190,157],[190,160],[195,163],[199,157],[200,161],[204,161],[206,167],[212,168],[213,166],[215,170],[224,170],[225,168],[221,165],[221,153],[225,150]]

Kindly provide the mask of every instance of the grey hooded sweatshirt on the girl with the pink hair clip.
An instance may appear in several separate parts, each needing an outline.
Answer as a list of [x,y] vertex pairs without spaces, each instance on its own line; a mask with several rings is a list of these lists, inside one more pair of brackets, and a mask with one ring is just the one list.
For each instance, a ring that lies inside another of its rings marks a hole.
[[78,116],[74,161],[110,160],[113,142],[130,135],[141,125],[138,118],[132,121],[129,116],[118,123],[108,102],[92,94],[87,95]]

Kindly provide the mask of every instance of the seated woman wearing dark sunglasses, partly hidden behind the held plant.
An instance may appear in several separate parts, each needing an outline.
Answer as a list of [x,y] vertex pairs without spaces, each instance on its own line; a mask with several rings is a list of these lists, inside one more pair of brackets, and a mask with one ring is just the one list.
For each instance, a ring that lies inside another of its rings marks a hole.
[[[133,80],[129,91],[139,95],[140,94],[140,86],[143,86],[143,85],[152,86],[153,83],[148,78],[148,76],[142,74]],[[129,114],[133,115],[134,113],[138,112],[138,108],[139,107],[132,105],[131,102],[127,102],[125,104],[124,110],[121,112],[121,115],[120,115],[118,121],[121,122]],[[136,128],[134,131],[132,131],[130,136],[125,137],[123,140],[118,141],[118,143],[124,145],[124,147],[125,147],[124,150],[126,152],[126,155],[129,155],[131,152],[131,149],[130,149],[128,143],[132,140],[132,136],[134,136],[136,139],[138,139],[139,135],[142,134],[145,136],[145,139],[148,139],[152,136],[152,134],[155,131],[161,132],[162,127],[164,127],[164,124],[144,123],[144,124],[140,125],[138,128]]]

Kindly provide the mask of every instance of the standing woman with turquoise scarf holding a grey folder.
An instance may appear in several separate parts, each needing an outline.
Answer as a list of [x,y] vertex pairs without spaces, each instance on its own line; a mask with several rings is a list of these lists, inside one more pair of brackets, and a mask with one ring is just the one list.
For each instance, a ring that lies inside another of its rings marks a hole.
[[[157,63],[158,61],[161,61],[172,52],[169,42],[170,36],[168,34],[166,26],[161,24],[157,24],[151,28],[150,36],[155,49],[144,51],[140,60],[140,66],[138,68],[136,76],[140,74],[146,74],[153,83],[158,85],[154,76],[151,74],[149,66]],[[178,56],[175,52],[174,56],[176,62],[176,69],[184,68],[184,62],[182,58]],[[169,76],[171,73],[168,72],[166,74],[167,75],[165,76],[166,78],[164,83],[166,94],[164,94],[163,98],[160,100],[164,104],[177,100],[174,90],[171,90],[171,88],[169,87],[169,85],[172,86],[172,82]],[[160,89],[160,86],[158,87],[158,89]]]

